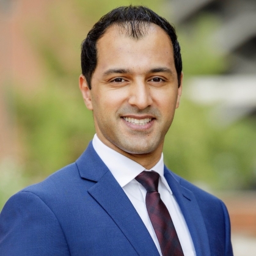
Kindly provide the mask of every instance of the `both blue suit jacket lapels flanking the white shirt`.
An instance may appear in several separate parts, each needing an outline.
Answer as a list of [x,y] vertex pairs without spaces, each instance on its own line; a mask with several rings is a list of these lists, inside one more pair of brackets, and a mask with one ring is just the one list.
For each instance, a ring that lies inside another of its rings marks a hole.
[[[122,230],[138,255],[159,255],[147,228],[137,214],[133,204],[119,183],[95,152],[92,142],[78,158],[76,164],[81,178],[94,181],[88,190],[101,207],[111,216]],[[210,256],[208,234],[202,214],[194,194],[180,184],[180,178],[166,167],[164,177],[167,180],[191,233],[197,256]]]

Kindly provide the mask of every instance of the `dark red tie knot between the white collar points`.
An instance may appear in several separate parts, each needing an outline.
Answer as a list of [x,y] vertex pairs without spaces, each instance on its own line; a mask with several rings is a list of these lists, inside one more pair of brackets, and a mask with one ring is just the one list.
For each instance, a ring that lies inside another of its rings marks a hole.
[[146,172],[145,170],[135,178],[147,192],[158,192],[159,174],[157,172]]

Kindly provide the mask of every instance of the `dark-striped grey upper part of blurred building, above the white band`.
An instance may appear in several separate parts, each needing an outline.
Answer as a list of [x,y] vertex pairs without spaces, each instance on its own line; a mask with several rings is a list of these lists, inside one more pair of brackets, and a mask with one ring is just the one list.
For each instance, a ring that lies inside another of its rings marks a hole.
[[175,24],[189,23],[202,12],[219,16],[222,26],[213,40],[231,58],[229,73],[255,75],[255,0],[172,0],[171,3]]

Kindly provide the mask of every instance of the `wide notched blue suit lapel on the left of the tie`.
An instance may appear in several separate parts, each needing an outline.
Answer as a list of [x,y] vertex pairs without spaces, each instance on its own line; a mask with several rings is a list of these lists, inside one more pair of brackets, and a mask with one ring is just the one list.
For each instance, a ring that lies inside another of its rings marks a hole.
[[111,216],[138,255],[159,255],[147,228],[119,183],[90,143],[76,161],[82,178],[96,181],[89,194]]

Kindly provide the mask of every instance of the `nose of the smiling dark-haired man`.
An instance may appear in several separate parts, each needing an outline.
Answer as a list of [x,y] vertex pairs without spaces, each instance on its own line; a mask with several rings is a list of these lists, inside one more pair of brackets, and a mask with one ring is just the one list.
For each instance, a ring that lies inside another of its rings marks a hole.
[[150,87],[146,82],[137,81],[132,84],[128,103],[139,109],[145,109],[153,103]]

